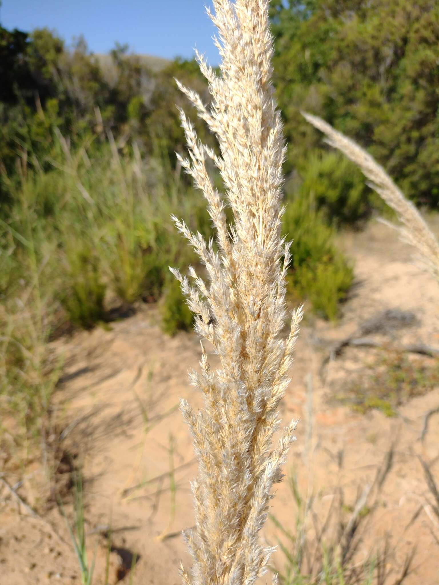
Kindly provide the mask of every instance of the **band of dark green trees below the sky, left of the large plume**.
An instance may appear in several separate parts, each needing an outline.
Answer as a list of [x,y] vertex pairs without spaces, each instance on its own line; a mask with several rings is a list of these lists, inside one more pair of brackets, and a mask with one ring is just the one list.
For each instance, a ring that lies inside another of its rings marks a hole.
[[153,73],[126,45],[116,43],[98,58],[83,38],[67,48],[49,29],[28,35],[0,27],[0,61],[0,161],[8,173],[20,153],[32,152],[46,166],[55,128],[75,142],[102,130],[130,133],[143,152],[174,166],[175,151],[184,149],[176,106],[187,106],[174,77],[208,99],[194,60],[177,59]]

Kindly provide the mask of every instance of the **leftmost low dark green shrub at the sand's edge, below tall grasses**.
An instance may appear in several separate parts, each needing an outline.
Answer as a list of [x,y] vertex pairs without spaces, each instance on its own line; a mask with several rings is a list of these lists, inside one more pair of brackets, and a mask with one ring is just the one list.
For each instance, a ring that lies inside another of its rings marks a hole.
[[104,320],[105,290],[101,267],[90,246],[79,244],[78,250],[67,252],[66,286],[60,302],[68,320],[84,329],[92,329]]

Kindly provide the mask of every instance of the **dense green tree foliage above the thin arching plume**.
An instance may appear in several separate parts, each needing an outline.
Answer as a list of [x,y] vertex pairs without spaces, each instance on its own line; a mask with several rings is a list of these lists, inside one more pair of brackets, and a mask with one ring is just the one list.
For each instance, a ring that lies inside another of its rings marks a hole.
[[439,202],[439,4],[312,0],[272,4],[287,170],[321,136],[315,113],[370,150],[404,193]]

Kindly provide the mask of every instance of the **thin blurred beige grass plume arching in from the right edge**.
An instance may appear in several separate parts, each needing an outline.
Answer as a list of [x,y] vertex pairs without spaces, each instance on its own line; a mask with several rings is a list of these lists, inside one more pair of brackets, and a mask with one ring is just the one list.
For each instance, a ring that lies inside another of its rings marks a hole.
[[404,197],[383,167],[353,140],[332,128],[318,116],[306,112],[302,112],[302,115],[325,134],[326,142],[330,146],[341,150],[371,181],[370,187],[396,212],[398,219],[402,222],[403,225],[400,226],[399,231],[403,239],[419,252],[427,270],[439,281],[439,242],[413,203]]

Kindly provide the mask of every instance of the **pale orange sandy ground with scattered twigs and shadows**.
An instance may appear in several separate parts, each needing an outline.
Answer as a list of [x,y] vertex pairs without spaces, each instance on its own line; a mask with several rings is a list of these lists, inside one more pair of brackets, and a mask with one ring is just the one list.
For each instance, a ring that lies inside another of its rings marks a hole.
[[[311,542],[315,523],[323,524],[329,510],[338,510],[334,517],[340,514],[346,523],[361,500],[364,518],[352,563],[361,566],[365,556],[387,546],[382,582],[398,583],[406,556],[416,546],[411,574],[403,582],[436,585],[439,518],[418,456],[430,464],[439,484],[439,415],[431,416],[424,440],[419,439],[425,414],[439,405],[439,388],[402,405],[396,417],[376,410],[362,415],[330,398],[378,350],[347,347],[324,370],[321,363],[337,342],[356,335],[387,309],[413,312],[417,323],[397,332],[372,332],[369,339],[439,347],[439,288],[384,226],[372,224],[365,232],[345,235],[342,244],[355,261],[356,285],[337,324],[308,317],[303,327],[282,407],[284,419],[301,418],[286,474],[297,474],[305,498],[315,494],[314,521],[310,511],[304,531]],[[189,481],[196,464],[177,404],[181,396],[200,404],[187,383],[188,368],[197,366],[199,341],[187,333],[165,336],[154,309],[146,307],[115,322],[110,331],[98,328],[57,341],[54,350],[65,359],[56,393],[63,469],[69,456],[82,467],[90,556],[97,550],[94,583],[104,583],[110,524],[110,584],[180,583],[180,561],[190,566],[180,532],[193,525]],[[373,481],[386,464],[378,490]],[[80,583],[64,518],[56,505],[48,507],[35,497],[39,471],[35,464],[4,475],[9,485],[25,477],[17,493],[39,510],[39,517],[29,517],[5,488],[0,491],[0,583]],[[68,494],[66,502],[71,518]],[[297,505],[288,480],[277,487],[272,511],[294,534]],[[262,536],[286,542],[271,520]],[[285,563],[279,550],[273,566],[283,570]]]

